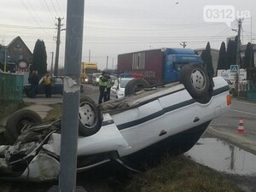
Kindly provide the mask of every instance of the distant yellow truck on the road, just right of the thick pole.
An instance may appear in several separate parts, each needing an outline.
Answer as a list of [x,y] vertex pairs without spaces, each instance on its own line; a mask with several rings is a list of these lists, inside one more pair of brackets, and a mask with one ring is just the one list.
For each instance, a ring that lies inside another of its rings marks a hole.
[[96,62],[82,62],[81,72],[81,82],[92,84],[92,73],[98,72],[98,65]]

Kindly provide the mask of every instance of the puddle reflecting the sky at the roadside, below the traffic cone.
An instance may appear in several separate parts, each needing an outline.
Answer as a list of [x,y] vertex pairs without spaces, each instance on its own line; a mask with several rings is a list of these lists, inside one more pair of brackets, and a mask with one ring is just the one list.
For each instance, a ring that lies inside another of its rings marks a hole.
[[186,154],[219,172],[256,176],[256,155],[218,138],[201,138]]

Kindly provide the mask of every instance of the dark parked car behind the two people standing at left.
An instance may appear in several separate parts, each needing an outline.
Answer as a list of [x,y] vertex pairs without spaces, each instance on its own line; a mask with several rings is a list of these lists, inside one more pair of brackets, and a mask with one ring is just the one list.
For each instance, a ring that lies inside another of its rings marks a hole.
[[[52,77],[52,86],[51,86],[51,94],[61,94],[63,92],[63,77],[62,76],[53,76]],[[32,97],[31,85],[28,84],[24,86],[24,93],[28,97]],[[39,80],[38,91],[37,94],[44,94],[44,84],[43,78]]]

